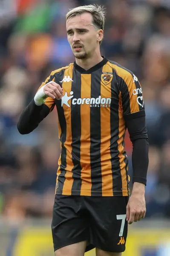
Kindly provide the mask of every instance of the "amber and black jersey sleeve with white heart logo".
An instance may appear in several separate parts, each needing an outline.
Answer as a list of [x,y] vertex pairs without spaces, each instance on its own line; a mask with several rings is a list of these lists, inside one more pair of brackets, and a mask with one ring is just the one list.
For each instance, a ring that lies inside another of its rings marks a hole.
[[119,75],[119,85],[124,118],[145,116],[143,92],[138,78],[132,72],[123,70]]

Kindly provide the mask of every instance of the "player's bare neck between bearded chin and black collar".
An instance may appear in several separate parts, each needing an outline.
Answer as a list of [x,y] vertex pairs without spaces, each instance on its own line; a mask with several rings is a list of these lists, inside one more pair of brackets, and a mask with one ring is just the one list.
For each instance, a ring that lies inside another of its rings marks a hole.
[[103,58],[101,57],[100,54],[98,55],[95,54],[90,58],[86,58],[86,59],[75,58],[76,64],[78,64],[78,66],[82,67],[84,70],[89,70],[91,67],[94,67],[96,64],[98,64],[102,60]]

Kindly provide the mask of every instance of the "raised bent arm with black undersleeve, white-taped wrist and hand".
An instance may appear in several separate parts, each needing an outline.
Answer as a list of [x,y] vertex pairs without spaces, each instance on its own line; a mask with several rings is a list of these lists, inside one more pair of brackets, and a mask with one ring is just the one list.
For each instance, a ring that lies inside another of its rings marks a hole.
[[35,130],[39,123],[53,110],[55,99],[62,98],[62,88],[54,81],[50,81],[50,78],[51,76],[41,84],[34,99],[21,113],[17,123],[20,134],[29,134]]

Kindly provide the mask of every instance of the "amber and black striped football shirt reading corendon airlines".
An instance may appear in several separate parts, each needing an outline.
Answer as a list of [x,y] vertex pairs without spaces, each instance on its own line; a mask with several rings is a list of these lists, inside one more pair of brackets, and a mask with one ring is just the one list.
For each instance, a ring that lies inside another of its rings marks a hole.
[[58,111],[56,194],[129,195],[125,121],[144,115],[137,77],[104,58],[89,70],[75,62],[55,70],[41,86],[49,81],[63,88],[62,99],[48,97],[44,103],[49,112],[55,105]]

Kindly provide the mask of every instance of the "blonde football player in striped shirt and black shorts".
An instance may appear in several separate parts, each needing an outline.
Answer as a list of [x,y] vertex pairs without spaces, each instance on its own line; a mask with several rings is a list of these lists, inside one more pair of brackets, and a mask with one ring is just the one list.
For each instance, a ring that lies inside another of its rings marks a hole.
[[[18,122],[33,131],[57,107],[58,161],[52,236],[55,256],[121,256],[127,224],[144,218],[148,140],[137,77],[100,54],[105,13],[101,6],[71,9],[67,38],[75,62],[53,71]],[[64,52],[63,52],[64,54]],[[129,199],[126,128],[133,143]]]

